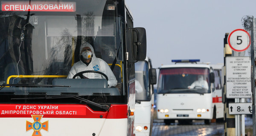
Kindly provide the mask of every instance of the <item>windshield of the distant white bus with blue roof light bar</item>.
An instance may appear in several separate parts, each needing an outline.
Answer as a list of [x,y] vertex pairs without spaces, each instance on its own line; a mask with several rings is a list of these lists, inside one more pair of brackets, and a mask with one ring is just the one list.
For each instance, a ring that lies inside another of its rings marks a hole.
[[209,68],[162,68],[158,94],[210,93]]

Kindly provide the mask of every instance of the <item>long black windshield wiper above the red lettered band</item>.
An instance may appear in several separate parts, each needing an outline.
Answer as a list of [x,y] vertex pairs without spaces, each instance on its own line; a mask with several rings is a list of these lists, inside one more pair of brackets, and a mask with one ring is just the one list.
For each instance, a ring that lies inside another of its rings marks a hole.
[[105,111],[109,110],[109,106],[108,105],[100,105],[98,103],[89,101],[87,99],[81,98],[79,96],[75,96],[75,95],[70,95],[70,96],[44,96],[44,97],[31,97],[31,98],[12,98],[12,100],[21,100],[21,99],[60,99],[60,98],[75,98],[75,99],[79,99],[83,102],[86,102],[88,104],[94,105],[96,107],[99,107]]

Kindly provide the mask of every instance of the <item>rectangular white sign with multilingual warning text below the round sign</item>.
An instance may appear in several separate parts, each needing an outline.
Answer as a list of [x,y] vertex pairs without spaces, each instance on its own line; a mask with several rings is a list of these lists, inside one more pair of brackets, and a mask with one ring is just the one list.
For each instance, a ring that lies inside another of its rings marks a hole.
[[226,57],[227,98],[250,98],[250,75],[250,57]]

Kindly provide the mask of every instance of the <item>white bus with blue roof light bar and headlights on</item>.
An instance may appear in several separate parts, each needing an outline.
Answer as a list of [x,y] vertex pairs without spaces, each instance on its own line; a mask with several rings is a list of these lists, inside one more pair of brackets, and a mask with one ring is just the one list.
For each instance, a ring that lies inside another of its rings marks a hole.
[[[195,119],[204,119],[205,124],[210,124],[215,118],[212,102],[212,94],[215,92],[213,69],[207,64],[197,64],[199,61],[172,60],[174,65],[160,67],[157,118],[164,119],[166,125],[175,120],[179,123],[192,123]],[[198,81],[201,77],[203,79]]]

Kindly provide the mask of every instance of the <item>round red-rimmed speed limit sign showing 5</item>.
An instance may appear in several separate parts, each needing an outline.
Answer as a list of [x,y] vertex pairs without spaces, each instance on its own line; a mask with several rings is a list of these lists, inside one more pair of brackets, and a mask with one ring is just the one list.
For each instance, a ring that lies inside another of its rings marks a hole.
[[250,46],[250,34],[244,29],[236,29],[228,35],[227,42],[233,51],[245,51]]

